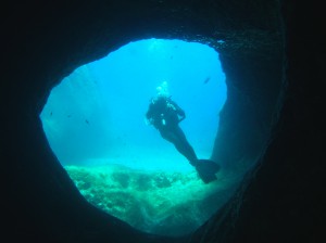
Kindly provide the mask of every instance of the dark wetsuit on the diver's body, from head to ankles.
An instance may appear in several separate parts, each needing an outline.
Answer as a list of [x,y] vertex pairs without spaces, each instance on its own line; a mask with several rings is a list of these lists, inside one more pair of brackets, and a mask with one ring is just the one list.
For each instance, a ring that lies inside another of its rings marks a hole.
[[172,142],[191,165],[196,164],[197,155],[178,125],[186,117],[185,112],[171,98],[152,99],[146,117],[162,138]]

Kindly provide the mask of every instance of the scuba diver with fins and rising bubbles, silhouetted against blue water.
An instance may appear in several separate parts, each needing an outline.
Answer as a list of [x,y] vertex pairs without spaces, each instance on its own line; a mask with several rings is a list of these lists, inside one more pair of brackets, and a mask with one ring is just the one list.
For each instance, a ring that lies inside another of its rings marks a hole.
[[175,145],[177,151],[196,167],[200,178],[205,183],[215,180],[215,172],[220,166],[209,159],[198,159],[195,150],[179,127],[179,123],[186,118],[186,113],[171,99],[167,82],[164,81],[156,88],[156,91],[158,95],[151,99],[146,113],[147,124],[153,125],[163,139]]

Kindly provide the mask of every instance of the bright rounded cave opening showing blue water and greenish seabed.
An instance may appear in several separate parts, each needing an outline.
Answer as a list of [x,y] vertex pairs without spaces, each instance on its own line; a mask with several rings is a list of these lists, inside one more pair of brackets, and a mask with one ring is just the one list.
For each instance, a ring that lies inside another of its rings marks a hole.
[[75,69],[40,114],[49,144],[92,205],[145,232],[196,230],[231,194],[231,178],[203,183],[175,148],[146,123],[167,85],[186,112],[180,123],[199,157],[210,158],[226,99],[218,53],[202,43],[147,39]]

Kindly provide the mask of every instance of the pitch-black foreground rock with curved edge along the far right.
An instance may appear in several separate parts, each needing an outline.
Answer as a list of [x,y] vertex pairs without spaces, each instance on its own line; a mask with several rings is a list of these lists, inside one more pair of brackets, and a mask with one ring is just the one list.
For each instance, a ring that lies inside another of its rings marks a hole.
[[190,242],[325,241],[325,16],[314,2],[284,1],[281,13],[279,119],[255,169]]

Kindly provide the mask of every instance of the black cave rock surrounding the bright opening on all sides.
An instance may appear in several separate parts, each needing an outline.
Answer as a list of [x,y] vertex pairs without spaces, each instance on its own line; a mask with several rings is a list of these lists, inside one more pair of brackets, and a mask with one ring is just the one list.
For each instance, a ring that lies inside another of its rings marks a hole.
[[2,236],[9,242],[186,240],[138,232],[87,204],[52,154],[38,118],[51,88],[77,66],[152,37],[200,41],[221,52],[229,100],[213,157],[231,167],[241,159],[252,164],[265,151],[235,197],[191,241],[313,242],[322,235],[324,16],[313,2],[309,8],[280,3],[8,1],[0,22]]

